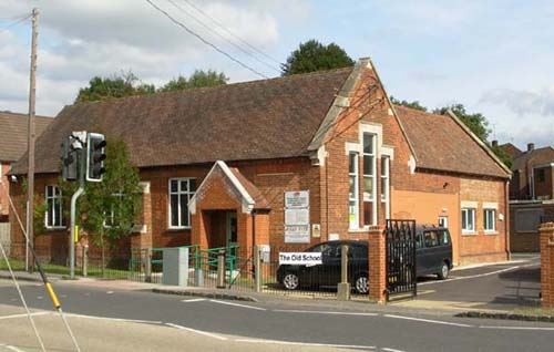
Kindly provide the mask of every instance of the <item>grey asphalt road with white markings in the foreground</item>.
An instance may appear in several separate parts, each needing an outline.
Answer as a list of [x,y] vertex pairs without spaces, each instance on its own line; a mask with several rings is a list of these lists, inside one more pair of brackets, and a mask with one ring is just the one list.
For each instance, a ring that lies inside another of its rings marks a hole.
[[[500,275],[500,273],[497,273]],[[478,280],[479,278],[475,278]],[[471,284],[472,279],[465,280]],[[43,288],[22,283],[49,350],[71,351]],[[453,318],[370,303],[184,298],[137,284],[55,284],[83,351],[552,351],[554,324]],[[35,351],[17,291],[0,280],[0,351]],[[99,319],[102,318],[102,319]],[[2,346],[4,344],[4,346]],[[18,351],[18,350],[6,350]]]

